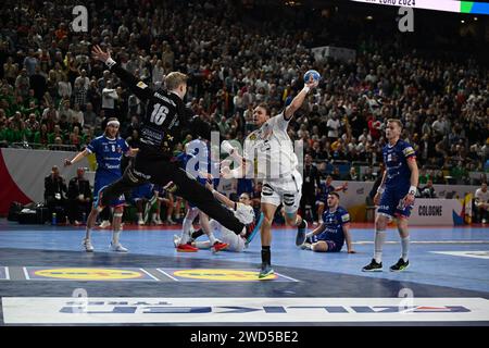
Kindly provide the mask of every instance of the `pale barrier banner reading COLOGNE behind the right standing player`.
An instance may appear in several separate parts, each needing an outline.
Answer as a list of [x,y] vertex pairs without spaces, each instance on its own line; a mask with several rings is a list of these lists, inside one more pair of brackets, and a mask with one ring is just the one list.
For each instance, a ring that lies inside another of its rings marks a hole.
[[463,204],[457,199],[416,198],[410,225],[453,226],[463,223]]

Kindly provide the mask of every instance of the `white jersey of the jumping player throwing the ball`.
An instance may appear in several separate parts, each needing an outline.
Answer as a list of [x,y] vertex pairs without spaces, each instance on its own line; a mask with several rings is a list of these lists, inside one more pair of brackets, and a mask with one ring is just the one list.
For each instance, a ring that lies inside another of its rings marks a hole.
[[[284,112],[271,117],[244,140],[243,157],[258,161],[259,178],[280,178],[291,174],[298,166],[292,140],[287,134],[289,122]],[[250,175],[250,173],[248,173]]]

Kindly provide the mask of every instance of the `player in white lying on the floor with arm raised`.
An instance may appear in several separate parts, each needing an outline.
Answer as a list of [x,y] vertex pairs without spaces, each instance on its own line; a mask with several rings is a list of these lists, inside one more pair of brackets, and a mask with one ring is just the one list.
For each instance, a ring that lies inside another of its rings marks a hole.
[[[212,187],[212,185],[208,184],[206,187],[208,187],[208,189],[210,189],[213,192],[214,197],[218,201],[221,201],[224,206],[226,206],[228,209],[230,209],[233,211],[236,219],[238,219],[240,222],[242,222],[243,224],[251,224],[254,221],[254,211],[253,211],[253,207],[251,207],[251,199],[248,194],[246,194],[246,192],[241,194],[239,196],[239,202],[235,202],[235,201],[230,200],[229,198],[227,198],[226,196],[224,196],[223,194],[215,190]],[[233,231],[224,227],[215,220],[211,220],[209,222],[209,224],[211,227],[211,234],[213,234],[214,232],[218,232],[221,235],[221,238],[217,240],[227,245],[227,248],[225,248],[224,250],[241,252],[246,248],[248,248],[248,241],[247,241],[246,236],[235,234]],[[201,229],[196,231],[195,233],[192,233],[192,238],[198,238],[203,234],[204,234],[204,232]],[[179,244],[178,236],[174,237],[174,243]],[[205,241],[195,240],[195,241],[192,241],[192,246],[195,246],[196,248],[199,248],[199,249],[211,248],[213,252],[217,251],[213,248],[212,243],[210,240],[205,240]]]

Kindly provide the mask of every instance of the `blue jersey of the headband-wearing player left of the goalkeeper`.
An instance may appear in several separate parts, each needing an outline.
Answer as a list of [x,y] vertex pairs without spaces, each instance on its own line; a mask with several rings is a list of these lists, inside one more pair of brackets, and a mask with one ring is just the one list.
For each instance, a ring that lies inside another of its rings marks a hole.
[[97,158],[97,176],[121,177],[121,159],[129,150],[126,140],[121,137],[109,139],[104,135],[95,138],[87,146]]

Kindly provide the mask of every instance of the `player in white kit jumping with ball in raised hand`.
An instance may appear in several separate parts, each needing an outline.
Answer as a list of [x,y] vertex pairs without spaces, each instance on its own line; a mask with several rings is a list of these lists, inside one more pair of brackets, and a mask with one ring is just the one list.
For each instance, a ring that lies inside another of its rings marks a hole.
[[258,177],[263,179],[261,210],[264,215],[261,227],[262,237],[262,266],[260,278],[274,273],[271,262],[272,222],[280,203],[284,203],[286,222],[298,227],[298,234],[304,234],[306,222],[297,214],[301,200],[302,175],[298,172],[298,159],[293,151],[292,141],[287,127],[293,113],[302,105],[311,88],[316,87],[317,80],[305,82],[302,90],[283,112],[272,117],[266,104],[259,104],[253,110],[253,120],[259,127],[244,140],[243,157],[241,158],[228,144],[223,144],[225,151],[229,152],[242,165],[229,170],[222,169],[225,178],[254,177],[254,160],[256,159]]

